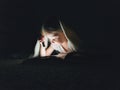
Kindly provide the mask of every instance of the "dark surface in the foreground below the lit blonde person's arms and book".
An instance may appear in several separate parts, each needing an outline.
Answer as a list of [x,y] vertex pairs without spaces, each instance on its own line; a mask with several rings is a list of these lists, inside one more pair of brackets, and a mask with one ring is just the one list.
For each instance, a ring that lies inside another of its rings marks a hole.
[[110,58],[6,59],[0,67],[0,90],[120,90],[117,64]]

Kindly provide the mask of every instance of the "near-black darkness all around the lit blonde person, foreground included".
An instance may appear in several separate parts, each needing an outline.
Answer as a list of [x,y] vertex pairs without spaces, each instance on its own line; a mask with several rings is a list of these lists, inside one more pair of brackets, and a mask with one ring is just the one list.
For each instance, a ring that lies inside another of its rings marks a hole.
[[[0,89],[119,90],[119,4],[91,0],[0,1],[0,57],[4,57],[0,59]],[[42,21],[51,15],[60,16],[78,32],[85,57],[69,58],[64,64],[51,59],[21,64],[25,55],[33,53]],[[19,55],[23,56],[20,60]]]

